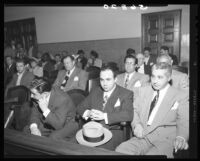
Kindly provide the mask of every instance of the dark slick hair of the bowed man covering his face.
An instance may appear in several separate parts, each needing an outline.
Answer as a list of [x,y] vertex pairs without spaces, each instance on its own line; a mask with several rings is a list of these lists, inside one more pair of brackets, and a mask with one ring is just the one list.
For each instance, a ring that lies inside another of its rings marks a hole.
[[35,78],[30,85],[30,89],[35,88],[40,94],[51,91],[51,84],[44,78]]

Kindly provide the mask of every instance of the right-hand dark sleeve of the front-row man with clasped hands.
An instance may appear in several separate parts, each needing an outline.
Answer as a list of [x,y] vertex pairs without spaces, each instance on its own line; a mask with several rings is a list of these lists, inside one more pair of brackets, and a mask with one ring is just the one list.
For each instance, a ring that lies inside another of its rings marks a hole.
[[108,124],[119,123],[122,121],[132,121],[133,119],[133,92],[126,94],[121,100],[121,108],[107,113]]

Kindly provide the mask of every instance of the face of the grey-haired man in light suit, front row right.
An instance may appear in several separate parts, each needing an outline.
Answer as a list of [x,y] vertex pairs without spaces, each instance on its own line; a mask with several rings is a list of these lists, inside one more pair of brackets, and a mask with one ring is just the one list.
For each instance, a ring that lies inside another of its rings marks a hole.
[[166,69],[153,69],[151,75],[151,84],[155,90],[163,89],[168,84],[170,79],[171,77],[167,73]]

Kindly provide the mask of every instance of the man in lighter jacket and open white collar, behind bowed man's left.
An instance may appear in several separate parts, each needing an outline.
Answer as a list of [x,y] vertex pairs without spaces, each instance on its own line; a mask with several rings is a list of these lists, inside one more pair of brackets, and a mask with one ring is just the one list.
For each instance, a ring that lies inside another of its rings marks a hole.
[[17,73],[13,75],[11,82],[7,85],[5,90],[5,96],[7,95],[8,89],[11,87],[23,85],[29,88],[32,80],[34,79],[34,75],[32,72],[27,71],[26,62],[24,59],[16,60],[16,69]]

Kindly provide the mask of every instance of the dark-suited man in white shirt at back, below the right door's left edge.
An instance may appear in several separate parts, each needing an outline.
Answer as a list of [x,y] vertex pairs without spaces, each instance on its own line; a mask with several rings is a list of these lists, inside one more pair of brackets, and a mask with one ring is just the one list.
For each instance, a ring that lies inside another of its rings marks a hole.
[[144,73],[151,76],[151,67],[156,63],[156,56],[151,54],[151,48],[144,48]]

